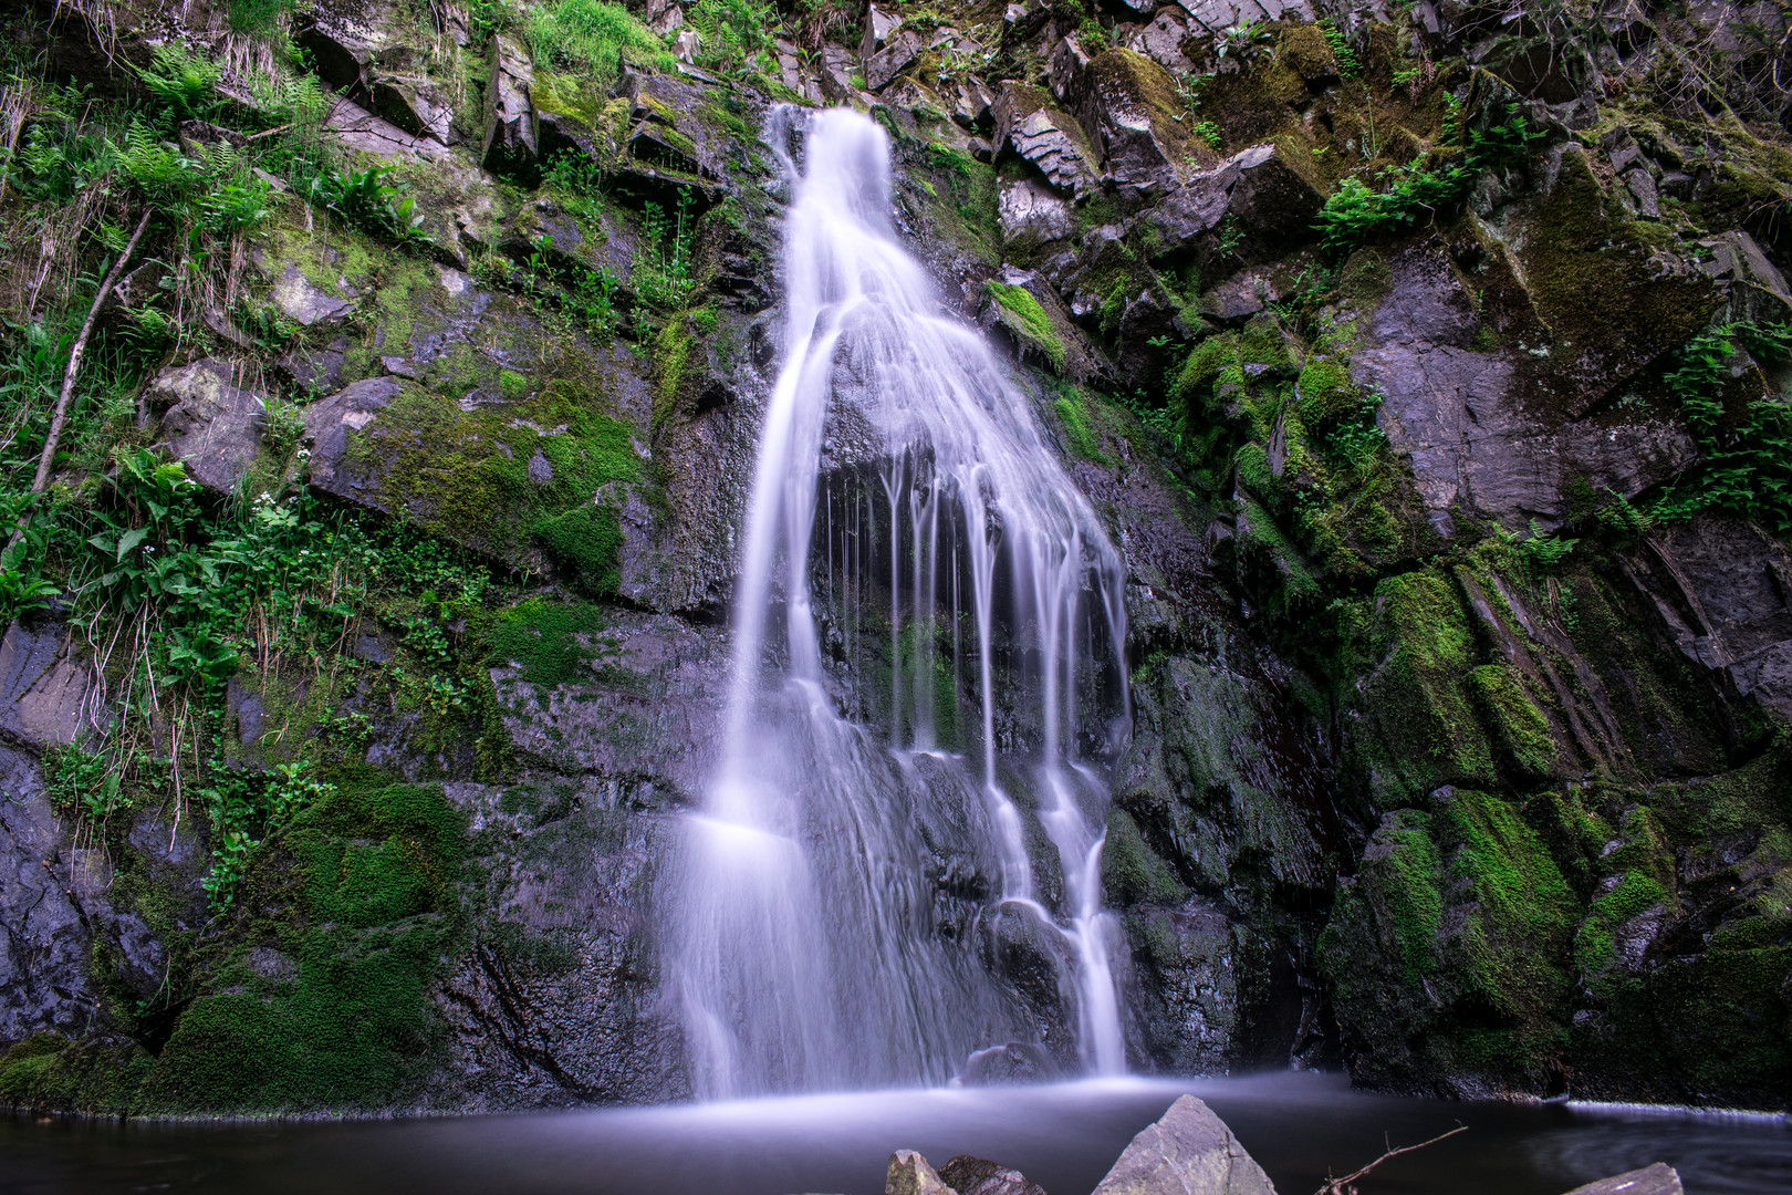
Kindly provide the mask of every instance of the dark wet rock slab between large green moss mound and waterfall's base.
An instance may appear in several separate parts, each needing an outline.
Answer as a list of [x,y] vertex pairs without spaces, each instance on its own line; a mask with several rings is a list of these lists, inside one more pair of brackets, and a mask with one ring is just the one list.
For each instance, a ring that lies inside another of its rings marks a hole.
[[471,817],[473,946],[437,994],[457,1111],[690,1098],[658,993],[654,860],[670,851],[656,787],[622,772],[505,790],[448,785]]

